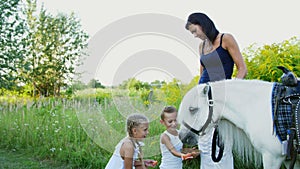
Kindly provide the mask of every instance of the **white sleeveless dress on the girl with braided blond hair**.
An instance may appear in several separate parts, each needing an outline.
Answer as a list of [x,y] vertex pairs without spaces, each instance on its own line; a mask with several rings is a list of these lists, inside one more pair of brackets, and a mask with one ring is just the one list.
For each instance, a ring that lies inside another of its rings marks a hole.
[[[122,157],[120,155],[120,149],[121,149],[121,146],[123,145],[125,139],[127,139],[127,138],[122,139],[117,144],[113,155],[111,156],[108,163],[106,164],[105,169],[124,169],[124,160],[122,159]],[[138,154],[139,154],[139,145],[137,143],[135,143],[133,162],[138,159]],[[132,169],[135,169],[135,167],[133,166]]]

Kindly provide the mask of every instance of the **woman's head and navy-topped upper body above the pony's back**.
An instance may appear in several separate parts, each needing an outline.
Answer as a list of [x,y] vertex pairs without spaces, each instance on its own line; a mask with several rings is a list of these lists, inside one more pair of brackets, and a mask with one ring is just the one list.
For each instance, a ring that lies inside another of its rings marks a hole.
[[199,46],[201,56],[199,83],[231,79],[234,64],[238,70],[236,78],[246,76],[246,64],[234,37],[228,33],[219,33],[207,15],[191,14],[186,29],[202,40]]

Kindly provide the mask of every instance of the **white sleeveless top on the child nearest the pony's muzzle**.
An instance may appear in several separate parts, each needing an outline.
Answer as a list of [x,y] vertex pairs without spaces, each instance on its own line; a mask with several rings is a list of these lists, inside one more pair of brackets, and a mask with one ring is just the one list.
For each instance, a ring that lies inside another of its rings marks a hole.
[[[168,131],[164,131],[164,134],[168,135],[170,141],[176,151],[181,152],[182,142],[179,139],[179,136],[174,136],[170,134]],[[162,135],[161,135],[162,136]],[[169,149],[162,144],[160,141],[160,151],[162,154],[161,164],[159,166],[160,169],[182,169],[182,159],[180,157],[174,156]]]

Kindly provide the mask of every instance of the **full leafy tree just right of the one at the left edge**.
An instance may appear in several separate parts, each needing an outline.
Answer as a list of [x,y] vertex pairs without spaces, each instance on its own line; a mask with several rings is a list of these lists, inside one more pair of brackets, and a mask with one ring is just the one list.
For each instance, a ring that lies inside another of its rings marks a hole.
[[34,95],[59,96],[82,64],[88,35],[74,13],[53,16],[43,7],[35,13],[36,1],[27,0],[28,53],[22,77],[34,87]]

